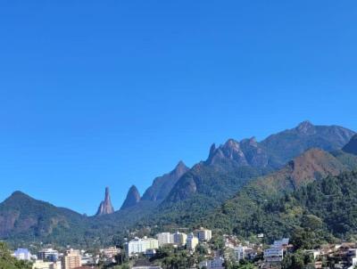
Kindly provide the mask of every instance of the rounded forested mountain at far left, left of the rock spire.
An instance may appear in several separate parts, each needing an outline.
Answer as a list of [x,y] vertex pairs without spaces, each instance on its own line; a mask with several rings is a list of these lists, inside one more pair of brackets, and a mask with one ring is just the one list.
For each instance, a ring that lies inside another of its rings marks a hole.
[[70,209],[34,200],[22,192],[13,192],[0,204],[0,221],[0,236],[5,240],[15,234],[16,241],[47,238],[60,240],[61,244],[67,239],[82,238],[87,218]]

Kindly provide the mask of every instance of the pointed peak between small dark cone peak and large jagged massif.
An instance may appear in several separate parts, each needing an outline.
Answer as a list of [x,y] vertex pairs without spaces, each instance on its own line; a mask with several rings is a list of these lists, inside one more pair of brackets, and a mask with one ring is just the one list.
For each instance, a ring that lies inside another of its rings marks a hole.
[[179,164],[169,174],[154,179],[153,184],[144,192],[141,200],[164,200],[170,193],[172,187],[178,182],[179,178],[188,170],[189,168],[184,162],[179,161]]

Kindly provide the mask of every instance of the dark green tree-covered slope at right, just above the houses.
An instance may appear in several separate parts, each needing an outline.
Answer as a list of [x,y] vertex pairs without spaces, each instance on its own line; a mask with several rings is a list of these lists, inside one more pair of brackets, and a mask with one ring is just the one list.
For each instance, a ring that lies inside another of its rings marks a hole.
[[288,236],[297,249],[311,249],[334,238],[348,240],[357,234],[356,172],[329,175],[294,192],[266,198],[246,197],[253,208],[237,204],[244,201],[243,196],[229,200],[215,217],[223,221],[215,225],[241,236],[263,232],[269,242]]

